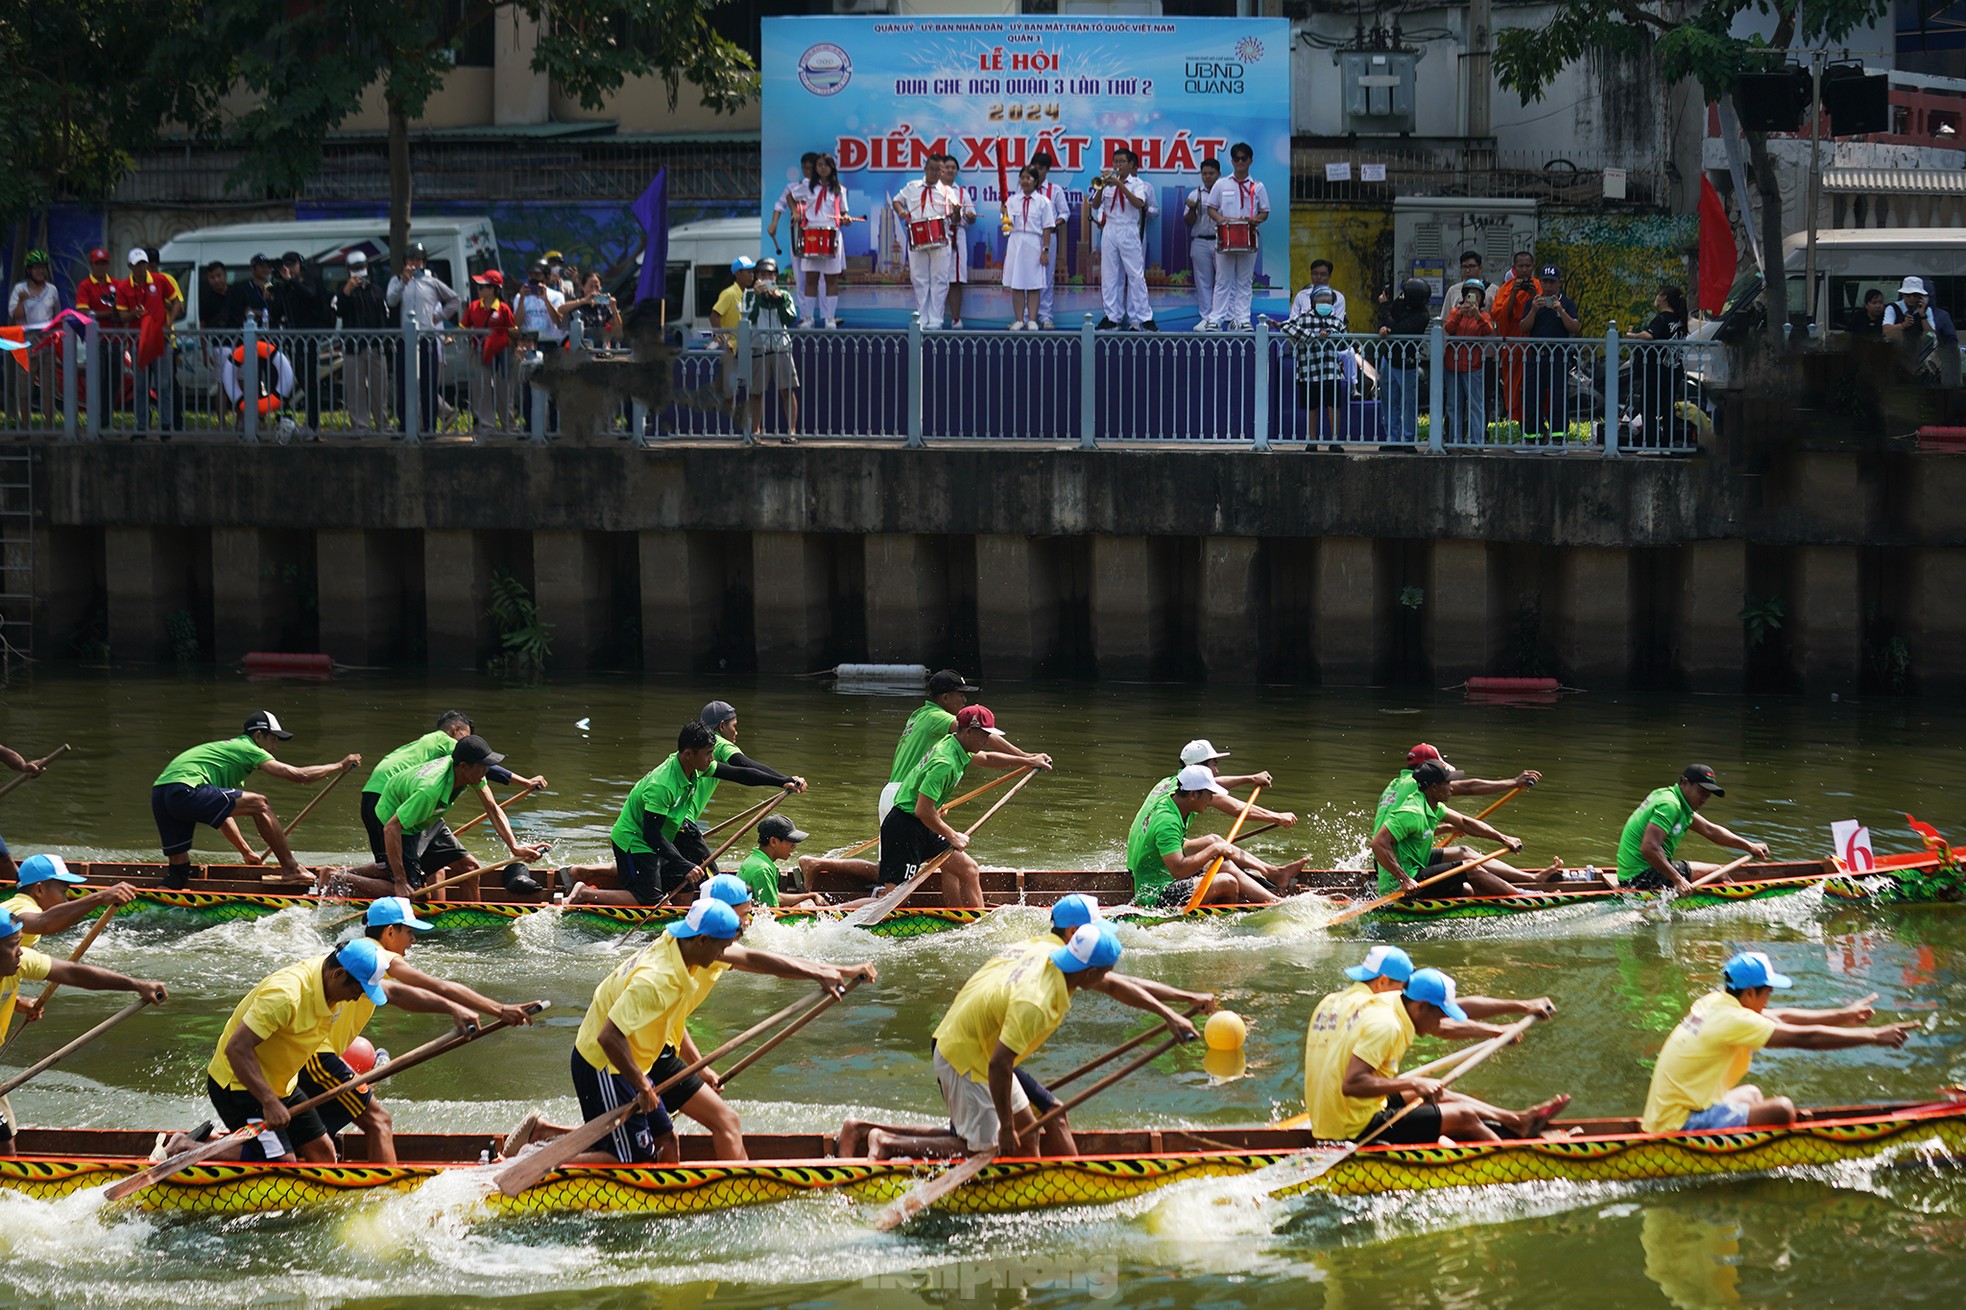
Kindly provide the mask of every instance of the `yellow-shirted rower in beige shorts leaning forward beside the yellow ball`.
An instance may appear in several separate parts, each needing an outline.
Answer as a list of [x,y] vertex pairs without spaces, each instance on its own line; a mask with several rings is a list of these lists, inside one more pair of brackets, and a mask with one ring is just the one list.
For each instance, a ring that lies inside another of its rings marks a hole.
[[[932,1044],[950,1127],[849,1125],[855,1133],[865,1131],[867,1155],[885,1161],[993,1151],[997,1159],[1009,1159],[1050,1153],[1054,1145],[1073,1153],[1070,1133],[1058,1139],[1046,1133],[1038,1141],[1032,1088],[1036,1100],[1050,1103],[1052,1098],[1018,1068],[1064,1023],[1071,993],[1103,991],[1123,1005],[1158,1015],[1184,1041],[1195,1037],[1195,1025],[1142,987],[1140,980],[1113,972],[1119,958],[1113,928],[1085,923],[1062,946],[1011,948],[979,968],[936,1025]],[[1180,997],[1201,1007],[1213,1003],[1211,995],[1193,991]]]

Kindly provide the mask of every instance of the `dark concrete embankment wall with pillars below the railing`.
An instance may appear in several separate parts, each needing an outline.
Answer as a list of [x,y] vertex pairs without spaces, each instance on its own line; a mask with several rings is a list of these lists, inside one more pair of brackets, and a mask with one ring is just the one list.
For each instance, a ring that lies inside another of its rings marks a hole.
[[[1779,433],[1769,441],[1777,443]],[[43,659],[1598,690],[1966,686],[1966,460],[879,447],[45,447]],[[1742,610],[1773,602],[1750,639]]]

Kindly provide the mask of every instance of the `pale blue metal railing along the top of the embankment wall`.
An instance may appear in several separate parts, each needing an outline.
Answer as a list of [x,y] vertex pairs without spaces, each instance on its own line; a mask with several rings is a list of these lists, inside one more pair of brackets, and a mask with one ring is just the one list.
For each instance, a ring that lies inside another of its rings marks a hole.
[[[79,325],[79,327],[77,327]],[[576,330],[578,338],[578,330]],[[140,364],[130,328],[69,319],[10,364],[0,431],[98,441],[558,439],[525,340],[466,328],[179,328]],[[578,348],[578,340],[574,346]],[[155,348],[155,346],[151,346]],[[248,403],[250,401],[250,403]],[[606,407],[604,407],[606,409]],[[741,323],[682,350],[670,403],[604,431],[663,439],[1423,445],[1685,452],[1710,427],[1689,342],[1315,332],[792,328]]]

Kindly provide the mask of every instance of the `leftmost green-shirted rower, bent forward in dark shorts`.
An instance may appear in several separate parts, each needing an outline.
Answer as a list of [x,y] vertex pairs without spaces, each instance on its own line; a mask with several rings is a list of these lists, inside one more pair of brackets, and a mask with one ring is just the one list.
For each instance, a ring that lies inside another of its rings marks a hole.
[[191,844],[199,824],[218,828],[246,863],[263,863],[240,836],[236,814],[254,820],[287,881],[313,881],[313,875],[295,863],[273,803],[256,791],[240,791],[240,783],[260,771],[283,783],[313,787],[354,769],[362,763],[362,755],[342,755],[336,763],[303,767],[273,759],[273,745],[291,738],[293,734],[281,728],[271,712],[258,710],[246,718],[240,736],[193,745],[163,767],[149,787],[149,812],[157,820],[163,858],[171,865],[163,873],[165,887],[183,891],[191,885]]

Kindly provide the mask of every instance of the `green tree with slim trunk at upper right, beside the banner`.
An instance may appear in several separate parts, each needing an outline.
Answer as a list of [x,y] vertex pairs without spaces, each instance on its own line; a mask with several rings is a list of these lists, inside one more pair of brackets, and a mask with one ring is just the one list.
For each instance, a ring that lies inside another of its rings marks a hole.
[[[1502,87],[1530,104],[1543,98],[1557,73],[1579,59],[1596,51],[1634,55],[1649,45],[1667,87],[1693,79],[1706,100],[1718,100],[1734,94],[1742,73],[1779,67],[1791,47],[1840,45],[1852,31],[1891,12],[1891,0],[1561,0],[1541,28],[1496,33],[1494,73]],[[1732,35],[1734,20],[1752,14],[1775,18],[1765,41]],[[1746,140],[1762,207],[1762,254],[1773,264],[1771,287],[1781,287],[1785,222],[1775,163],[1765,134],[1748,132]],[[1775,297],[1764,293],[1762,299],[1769,311],[1769,334],[1779,340],[1785,315]]]

